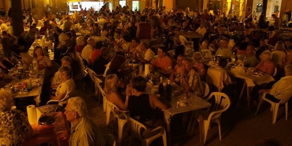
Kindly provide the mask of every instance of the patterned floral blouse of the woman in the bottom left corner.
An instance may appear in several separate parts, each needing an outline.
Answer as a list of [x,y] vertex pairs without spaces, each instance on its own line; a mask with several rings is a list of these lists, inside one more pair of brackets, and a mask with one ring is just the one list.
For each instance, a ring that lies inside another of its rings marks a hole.
[[27,132],[30,124],[20,110],[0,111],[0,146],[21,146],[22,133]]

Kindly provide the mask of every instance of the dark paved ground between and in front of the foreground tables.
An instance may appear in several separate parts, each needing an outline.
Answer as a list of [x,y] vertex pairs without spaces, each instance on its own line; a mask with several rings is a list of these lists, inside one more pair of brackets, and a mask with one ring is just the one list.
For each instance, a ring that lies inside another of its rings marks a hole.
[[[83,91],[79,84],[76,89],[76,95],[85,100],[88,106],[89,116],[98,124],[103,133],[113,134],[117,139],[117,122],[115,123],[115,127],[113,127],[111,116],[110,124],[106,126],[106,115],[103,112],[102,102],[98,105],[90,88],[88,87],[86,91]],[[279,107],[277,122],[272,124],[272,111],[270,111],[268,104],[264,104],[255,116],[256,108],[248,110],[243,101],[238,108],[231,108],[222,114],[222,141],[219,140],[218,126],[216,124],[211,125],[211,129],[208,131],[206,138],[206,146],[254,146],[257,140],[265,137],[274,137],[283,146],[292,146],[292,104],[289,106],[288,120],[285,120],[285,106],[283,105]],[[180,127],[180,116],[174,118],[177,118],[177,120],[174,119],[174,122],[171,124],[172,132],[180,132],[176,131],[178,129],[176,127]],[[194,136],[173,139],[171,141],[172,146],[194,146],[194,144],[198,144],[198,132],[197,127]],[[123,143],[119,145],[128,146],[128,137],[128,125],[126,124],[123,131]],[[133,140],[132,146],[140,145],[141,142],[138,139]],[[153,146],[158,145],[159,143],[153,144]]]

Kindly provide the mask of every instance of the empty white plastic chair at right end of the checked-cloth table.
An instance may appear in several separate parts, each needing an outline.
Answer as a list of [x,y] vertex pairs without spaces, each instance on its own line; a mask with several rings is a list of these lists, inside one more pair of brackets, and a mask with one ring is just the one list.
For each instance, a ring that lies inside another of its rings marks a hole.
[[221,126],[220,126],[221,113],[226,111],[230,107],[230,99],[226,94],[221,93],[221,92],[212,92],[209,95],[209,97],[206,99],[206,101],[211,99],[211,97],[215,98],[215,105],[212,105],[212,109],[209,111],[205,111],[205,112],[202,111],[203,127],[204,127],[204,130],[203,130],[204,143],[206,142],[207,132],[208,132],[208,128],[211,122],[215,122],[218,124],[219,139],[221,141]]

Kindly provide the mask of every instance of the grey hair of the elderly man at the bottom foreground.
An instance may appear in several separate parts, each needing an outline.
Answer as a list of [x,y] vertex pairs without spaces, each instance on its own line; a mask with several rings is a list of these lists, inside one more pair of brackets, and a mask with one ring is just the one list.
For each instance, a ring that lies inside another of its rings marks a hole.
[[85,101],[81,97],[72,97],[68,99],[70,110],[76,111],[80,117],[87,116],[87,106]]

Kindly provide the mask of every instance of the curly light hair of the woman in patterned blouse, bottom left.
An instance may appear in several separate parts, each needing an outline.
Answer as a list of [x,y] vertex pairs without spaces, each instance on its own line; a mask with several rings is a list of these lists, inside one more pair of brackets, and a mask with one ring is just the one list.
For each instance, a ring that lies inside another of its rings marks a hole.
[[0,90],[0,111],[10,110],[13,98],[10,91]]

